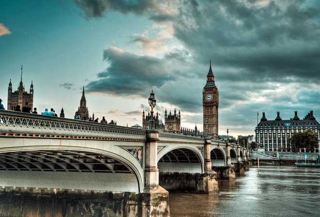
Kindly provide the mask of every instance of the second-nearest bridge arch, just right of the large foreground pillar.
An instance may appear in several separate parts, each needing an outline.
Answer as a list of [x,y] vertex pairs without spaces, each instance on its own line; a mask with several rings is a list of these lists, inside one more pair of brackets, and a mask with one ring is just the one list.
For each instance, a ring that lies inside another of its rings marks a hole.
[[160,172],[202,173],[204,171],[203,162],[201,149],[192,145],[175,146],[173,148],[165,146],[160,147],[158,151],[158,169]]

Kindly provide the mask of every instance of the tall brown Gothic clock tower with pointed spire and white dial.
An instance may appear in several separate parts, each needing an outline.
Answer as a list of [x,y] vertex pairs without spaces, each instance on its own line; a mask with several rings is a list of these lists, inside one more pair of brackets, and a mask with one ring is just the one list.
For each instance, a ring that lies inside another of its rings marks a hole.
[[206,119],[208,118],[208,137],[218,140],[218,107],[219,107],[219,92],[214,83],[214,75],[210,69],[207,75],[207,83],[202,92],[203,105],[203,131],[206,133]]

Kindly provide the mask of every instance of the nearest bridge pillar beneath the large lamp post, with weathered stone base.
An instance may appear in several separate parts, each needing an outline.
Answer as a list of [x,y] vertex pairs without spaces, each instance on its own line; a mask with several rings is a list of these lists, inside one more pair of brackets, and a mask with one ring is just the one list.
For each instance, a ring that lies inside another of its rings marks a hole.
[[144,191],[147,217],[170,217],[169,192],[159,186],[159,132],[147,131],[145,143]]

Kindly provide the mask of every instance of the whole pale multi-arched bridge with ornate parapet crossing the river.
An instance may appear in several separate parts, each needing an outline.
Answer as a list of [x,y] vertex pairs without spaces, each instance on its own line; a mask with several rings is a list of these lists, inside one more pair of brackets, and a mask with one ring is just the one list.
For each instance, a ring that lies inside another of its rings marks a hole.
[[217,178],[235,178],[248,158],[218,140],[0,110],[2,189],[148,195],[133,216],[169,216],[166,190],[218,192]]

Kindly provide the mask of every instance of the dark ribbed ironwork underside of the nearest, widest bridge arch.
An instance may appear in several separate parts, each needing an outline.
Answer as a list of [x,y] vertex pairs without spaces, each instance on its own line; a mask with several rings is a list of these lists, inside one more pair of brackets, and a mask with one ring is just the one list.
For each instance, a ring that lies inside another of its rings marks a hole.
[[0,153],[0,170],[134,173],[125,163],[106,155],[48,150]]

